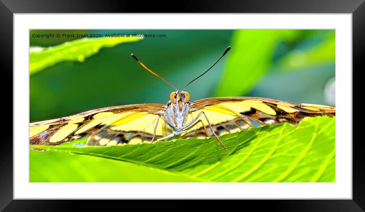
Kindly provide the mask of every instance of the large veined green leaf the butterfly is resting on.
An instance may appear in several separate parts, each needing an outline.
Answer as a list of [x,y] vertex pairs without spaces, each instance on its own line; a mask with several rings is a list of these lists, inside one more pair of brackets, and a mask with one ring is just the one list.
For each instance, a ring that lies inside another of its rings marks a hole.
[[[109,147],[76,147],[75,142],[59,146],[31,146],[37,149],[112,158],[113,163],[136,164],[178,175],[181,181],[208,182],[334,182],[335,181],[335,118],[305,118],[299,125],[289,123],[242,130],[220,137],[228,147],[225,151],[215,138],[178,139],[155,144]],[[81,141],[85,142],[85,139]],[[34,154],[34,153],[33,153]],[[48,153],[50,154],[50,153]],[[76,155],[77,155],[76,154]],[[70,166],[79,163],[48,163],[46,158],[34,160],[31,167],[43,166],[47,172],[67,174]],[[49,156],[49,160],[58,160]],[[105,163],[108,164],[108,159]],[[91,162],[93,164],[93,162]],[[71,164],[71,165],[70,165]],[[100,165],[100,164],[99,164]],[[95,165],[98,169],[99,165]],[[57,166],[63,167],[58,170]],[[83,166],[82,166],[83,167]],[[87,169],[86,169],[87,170]],[[105,170],[105,169],[103,169]],[[80,176],[84,177],[80,171]],[[137,181],[151,180],[147,173],[116,169],[118,175],[139,175]],[[41,170],[31,175],[36,176]],[[103,174],[100,171],[99,174]],[[177,178],[174,178],[178,180]],[[80,178],[77,178],[80,180]],[[87,181],[87,175],[86,179]],[[124,179],[121,179],[123,181]],[[170,179],[167,178],[167,181]]]

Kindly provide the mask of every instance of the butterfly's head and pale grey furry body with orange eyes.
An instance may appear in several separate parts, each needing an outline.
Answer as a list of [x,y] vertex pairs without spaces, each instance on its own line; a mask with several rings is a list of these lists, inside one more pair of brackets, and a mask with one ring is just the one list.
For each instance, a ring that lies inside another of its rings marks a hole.
[[189,94],[184,91],[172,92],[170,95],[164,117],[167,124],[174,131],[180,132],[184,129],[190,111],[190,102],[188,100]]

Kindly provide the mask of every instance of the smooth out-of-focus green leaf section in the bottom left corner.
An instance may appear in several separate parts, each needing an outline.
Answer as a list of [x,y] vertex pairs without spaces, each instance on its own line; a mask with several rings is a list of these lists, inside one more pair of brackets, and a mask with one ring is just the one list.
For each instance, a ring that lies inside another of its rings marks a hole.
[[31,182],[196,182],[161,169],[66,151],[30,151]]

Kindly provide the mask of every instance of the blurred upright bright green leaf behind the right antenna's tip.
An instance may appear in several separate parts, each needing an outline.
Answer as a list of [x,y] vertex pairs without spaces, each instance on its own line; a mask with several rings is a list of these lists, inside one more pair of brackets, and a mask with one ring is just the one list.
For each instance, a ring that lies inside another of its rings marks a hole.
[[232,37],[229,52],[216,96],[247,94],[265,75],[271,65],[275,45],[297,36],[296,30],[238,30]]

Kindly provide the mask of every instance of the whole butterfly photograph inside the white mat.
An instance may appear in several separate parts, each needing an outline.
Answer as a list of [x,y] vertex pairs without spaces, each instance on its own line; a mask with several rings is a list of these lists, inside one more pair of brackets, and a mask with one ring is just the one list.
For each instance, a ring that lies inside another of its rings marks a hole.
[[30,29],[29,182],[336,182],[335,35]]

